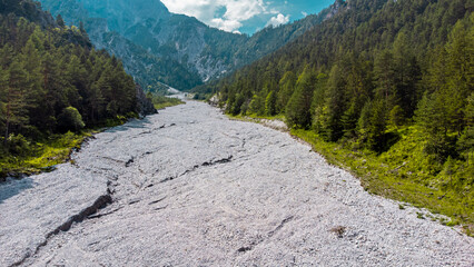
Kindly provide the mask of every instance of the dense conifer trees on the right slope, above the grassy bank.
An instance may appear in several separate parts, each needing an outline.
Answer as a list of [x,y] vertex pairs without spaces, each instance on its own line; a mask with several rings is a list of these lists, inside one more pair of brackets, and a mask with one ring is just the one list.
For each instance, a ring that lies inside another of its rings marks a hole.
[[228,113],[284,113],[289,127],[354,149],[386,151],[396,129],[416,126],[433,161],[467,162],[473,8],[468,0],[339,1],[333,18],[206,90]]

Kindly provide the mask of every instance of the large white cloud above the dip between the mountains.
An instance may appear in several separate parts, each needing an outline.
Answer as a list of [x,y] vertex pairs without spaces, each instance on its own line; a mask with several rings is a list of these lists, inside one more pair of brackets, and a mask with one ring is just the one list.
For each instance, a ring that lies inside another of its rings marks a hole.
[[[267,10],[264,0],[161,0],[174,13],[184,13],[196,17],[198,20],[225,31],[237,31],[243,21],[263,13],[275,12]],[[226,12],[216,18],[218,10]]]

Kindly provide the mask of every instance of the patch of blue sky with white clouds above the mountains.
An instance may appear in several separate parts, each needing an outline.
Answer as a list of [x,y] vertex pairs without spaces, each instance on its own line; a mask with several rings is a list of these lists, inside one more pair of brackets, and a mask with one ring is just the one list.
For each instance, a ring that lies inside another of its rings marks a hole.
[[334,0],[161,0],[169,11],[196,17],[215,28],[253,34],[267,26],[318,13]]

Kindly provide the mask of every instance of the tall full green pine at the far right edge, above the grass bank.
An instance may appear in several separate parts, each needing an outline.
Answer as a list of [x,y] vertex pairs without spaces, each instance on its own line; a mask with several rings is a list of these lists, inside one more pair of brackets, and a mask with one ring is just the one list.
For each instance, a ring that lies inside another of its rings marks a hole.
[[[467,29],[472,32],[473,28],[463,21],[454,27],[444,49],[446,52],[431,67],[428,85],[433,88],[425,93],[416,111],[416,120],[428,139],[425,150],[435,155],[440,162],[457,156],[456,138],[450,132],[461,136],[468,121],[465,112],[468,96],[474,91],[474,40]],[[465,139],[458,144],[466,144]]]

